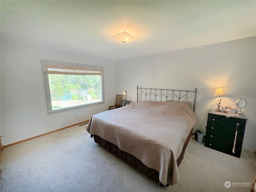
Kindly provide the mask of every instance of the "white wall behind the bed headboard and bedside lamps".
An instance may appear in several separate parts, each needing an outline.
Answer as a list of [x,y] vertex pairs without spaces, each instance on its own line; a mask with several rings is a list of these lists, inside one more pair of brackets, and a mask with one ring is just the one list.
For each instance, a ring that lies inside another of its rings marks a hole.
[[243,148],[256,150],[256,37],[234,40],[134,58],[117,62],[117,92],[128,92],[127,99],[136,102],[136,86],[194,90],[196,129],[204,130],[208,109],[216,109],[217,87],[228,96],[224,106],[235,107],[238,98],[246,98],[242,111],[248,118]]

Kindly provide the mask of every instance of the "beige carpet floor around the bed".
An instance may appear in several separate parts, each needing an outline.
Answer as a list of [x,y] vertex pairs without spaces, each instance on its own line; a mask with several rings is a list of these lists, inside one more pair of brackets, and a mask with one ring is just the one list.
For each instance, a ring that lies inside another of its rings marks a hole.
[[1,192],[248,192],[250,186],[242,182],[252,182],[256,172],[253,153],[242,151],[236,158],[192,137],[179,166],[180,180],[160,187],[101,148],[85,128],[74,126],[5,148]]

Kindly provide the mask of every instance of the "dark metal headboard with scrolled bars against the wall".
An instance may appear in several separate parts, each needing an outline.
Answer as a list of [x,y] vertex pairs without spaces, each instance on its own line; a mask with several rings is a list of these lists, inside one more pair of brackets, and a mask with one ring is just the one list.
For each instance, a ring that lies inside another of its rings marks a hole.
[[[140,90],[140,92],[139,92]],[[178,101],[192,101],[189,96],[189,92],[192,93],[194,98],[193,111],[195,112],[196,108],[196,92],[197,88],[194,91],[188,90],[173,90],[173,89],[154,89],[154,88],[139,88],[137,85],[137,102],[139,102],[139,94],[141,96],[141,101],[167,101],[167,100],[178,100]]]

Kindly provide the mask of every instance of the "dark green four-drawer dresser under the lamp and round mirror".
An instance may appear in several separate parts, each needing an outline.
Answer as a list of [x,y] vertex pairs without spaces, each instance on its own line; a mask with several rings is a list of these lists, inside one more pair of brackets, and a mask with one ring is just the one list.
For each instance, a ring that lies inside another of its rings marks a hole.
[[246,120],[244,115],[210,109],[204,146],[240,158]]

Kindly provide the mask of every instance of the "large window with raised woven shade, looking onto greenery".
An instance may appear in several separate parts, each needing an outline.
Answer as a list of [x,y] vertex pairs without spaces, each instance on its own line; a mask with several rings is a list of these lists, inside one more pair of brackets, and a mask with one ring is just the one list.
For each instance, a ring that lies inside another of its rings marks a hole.
[[102,66],[41,60],[48,114],[104,103]]

